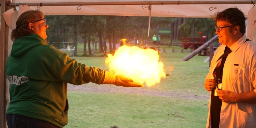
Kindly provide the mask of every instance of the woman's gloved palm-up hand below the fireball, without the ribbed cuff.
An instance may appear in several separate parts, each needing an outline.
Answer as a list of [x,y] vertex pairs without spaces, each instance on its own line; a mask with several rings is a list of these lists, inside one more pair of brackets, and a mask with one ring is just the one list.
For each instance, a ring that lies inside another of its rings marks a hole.
[[125,77],[123,75],[117,75],[116,86],[123,86],[123,87],[144,87],[143,84],[135,83],[129,77]]

